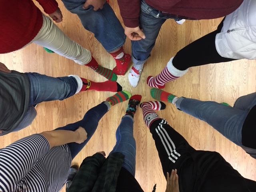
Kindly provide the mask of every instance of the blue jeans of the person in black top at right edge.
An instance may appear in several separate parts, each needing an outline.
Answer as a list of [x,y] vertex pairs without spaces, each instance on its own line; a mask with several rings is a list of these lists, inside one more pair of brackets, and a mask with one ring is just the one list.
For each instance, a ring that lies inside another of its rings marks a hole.
[[237,145],[242,145],[244,120],[255,105],[256,93],[238,98],[234,107],[184,97],[176,101],[177,109],[205,121]]

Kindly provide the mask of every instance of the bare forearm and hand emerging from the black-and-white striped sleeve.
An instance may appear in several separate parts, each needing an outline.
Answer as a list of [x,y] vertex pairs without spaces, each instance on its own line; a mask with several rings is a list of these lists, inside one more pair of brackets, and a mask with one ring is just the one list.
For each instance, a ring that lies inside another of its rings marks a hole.
[[78,144],[84,142],[87,139],[87,133],[84,128],[79,127],[75,131],[68,130],[52,130],[42,132],[43,135],[49,142],[50,148],[54,146],[60,146],[67,143],[76,142]]

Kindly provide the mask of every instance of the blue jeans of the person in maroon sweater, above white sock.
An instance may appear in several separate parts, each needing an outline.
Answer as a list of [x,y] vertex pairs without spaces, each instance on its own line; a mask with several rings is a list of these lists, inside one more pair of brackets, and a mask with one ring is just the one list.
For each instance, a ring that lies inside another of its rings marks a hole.
[[150,57],[156,38],[166,19],[171,18],[176,21],[179,18],[164,15],[161,11],[146,4],[144,0],[140,4],[140,28],[146,36],[145,39],[132,41],[132,61],[135,65],[144,64]]

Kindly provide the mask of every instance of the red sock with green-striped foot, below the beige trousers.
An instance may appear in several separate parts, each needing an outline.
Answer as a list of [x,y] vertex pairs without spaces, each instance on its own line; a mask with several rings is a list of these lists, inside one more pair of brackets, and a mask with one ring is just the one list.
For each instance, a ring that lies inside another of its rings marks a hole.
[[111,80],[111,81],[116,81],[117,80],[116,74],[114,74],[112,70],[100,66],[98,64],[98,62],[94,59],[94,57],[92,57],[92,60],[88,64],[86,64],[85,66],[90,67],[96,73],[104,76],[108,80]]

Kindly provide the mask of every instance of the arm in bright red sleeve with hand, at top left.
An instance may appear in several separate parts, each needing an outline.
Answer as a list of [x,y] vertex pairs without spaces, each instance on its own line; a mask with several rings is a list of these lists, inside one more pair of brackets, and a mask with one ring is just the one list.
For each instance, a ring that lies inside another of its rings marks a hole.
[[49,16],[54,20],[56,23],[62,22],[62,13],[60,8],[58,8],[58,3],[56,0],[36,0],[44,9],[44,12],[49,14]]

